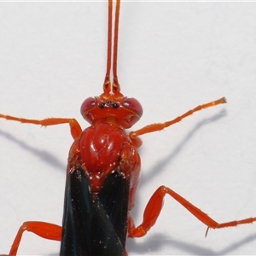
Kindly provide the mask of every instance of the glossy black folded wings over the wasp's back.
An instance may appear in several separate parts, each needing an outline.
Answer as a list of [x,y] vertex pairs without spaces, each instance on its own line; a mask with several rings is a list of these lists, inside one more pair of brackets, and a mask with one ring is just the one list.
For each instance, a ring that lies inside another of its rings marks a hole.
[[60,255],[125,254],[129,181],[119,172],[105,180],[95,201],[82,168],[67,174]]

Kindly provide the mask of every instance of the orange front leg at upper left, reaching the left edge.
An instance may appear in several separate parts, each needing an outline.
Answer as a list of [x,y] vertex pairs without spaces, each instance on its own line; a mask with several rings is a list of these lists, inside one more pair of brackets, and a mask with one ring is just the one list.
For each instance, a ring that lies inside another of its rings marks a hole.
[[42,125],[42,126],[69,124],[71,135],[74,139],[76,137],[79,137],[79,135],[82,132],[82,129],[76,119],[61,119],[61,118],[50,118],[50,119],[42,119],[42,120],[22,119],[22,118],[17,118],[11,115],[4,115],[2,113],[0,113],[0,118],[17,121],[24,124],[33,124],[33,125]]

